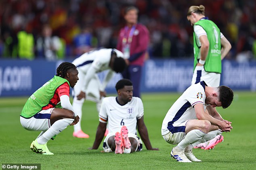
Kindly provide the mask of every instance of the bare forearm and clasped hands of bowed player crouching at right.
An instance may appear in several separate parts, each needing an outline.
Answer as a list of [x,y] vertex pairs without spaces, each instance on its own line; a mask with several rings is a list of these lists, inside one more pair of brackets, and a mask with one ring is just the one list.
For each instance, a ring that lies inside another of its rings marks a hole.
[[218,126],[221,130],[225,130],[231,127],[228,123],[225,121],[220,121],[218,119],[215,119],[214,117],[210,116],[208,113],[204,111],[204,105],[201,103],[195,104],[195,114],[197,119],[199,120],[208,120],[212,125]]

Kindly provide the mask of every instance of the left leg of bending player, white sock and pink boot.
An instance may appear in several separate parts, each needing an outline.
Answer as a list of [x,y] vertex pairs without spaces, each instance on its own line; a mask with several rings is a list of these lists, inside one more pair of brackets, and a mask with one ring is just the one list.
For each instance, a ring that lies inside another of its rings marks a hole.
[[78,100],[76,97],[81,92],[82,85],[84,82],[84,77],[85,77],[85,74],[82,71],[80,71],[78,74],[79,80],[76,83],[76,86],[74,86],[74,98],[73,98],[73,104],[72,104],[75,113],[80,117],[80,121],[76,125],[74,125],[73,137],[79,137],[79,138],[88,138],[89,137],[89,135],[84,133],[81,129],[82,107],[84,104],[84,98],[82,98],[81,100]]

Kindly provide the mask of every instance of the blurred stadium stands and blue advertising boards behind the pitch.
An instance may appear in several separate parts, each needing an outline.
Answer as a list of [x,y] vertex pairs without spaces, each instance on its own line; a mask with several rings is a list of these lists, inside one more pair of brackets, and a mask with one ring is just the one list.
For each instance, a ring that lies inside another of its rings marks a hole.
[[[221,84],[234,90],[256,91],[256,2],[254,0],[2,0],[0,2],[0,96],[29,96],[49,80],[61,61],[78,55],[74,38],[86,29],[93,48],[115,48],[118,33],[125,25],[124,9],[139,9],[138,21],[147,26],[151,43],[143,69],[142,92],[185,90],[193,72],[193,29],[187,9],[203,4],[232,44],[223,62]],[[52,35],[62,40],[56,60],[47,60],[36,50],[42,26],[49,24]],[[17,34],[34,37],[33,55],[19,57]],[[103,78],[102,73],[100,75]],[[115,75],[107,86],[120,79]]]

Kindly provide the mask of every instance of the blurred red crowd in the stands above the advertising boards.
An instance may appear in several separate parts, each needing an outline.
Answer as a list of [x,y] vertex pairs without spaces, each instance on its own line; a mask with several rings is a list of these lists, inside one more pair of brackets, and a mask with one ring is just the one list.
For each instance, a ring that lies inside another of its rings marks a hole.
[[150,32],[152,58],[193,58],[191,5],[206,7],[231,42],[227,59],[256,59],[255,0],[1,0],[0,58],[75,58],[115,48],[124,9],[136,6]]

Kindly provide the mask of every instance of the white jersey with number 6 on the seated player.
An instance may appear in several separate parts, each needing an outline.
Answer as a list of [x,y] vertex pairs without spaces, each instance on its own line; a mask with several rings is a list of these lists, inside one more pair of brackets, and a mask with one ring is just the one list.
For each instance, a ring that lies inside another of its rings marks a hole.
[[103,99],[99,113],[99,121],[108,123],[109,133],[120,132],[122,126],[126,126],[129,133],[136,134],[137,119],[144,115],[143,103],[140,98],[132,97],[132,100],[121,106],[117,97]]

